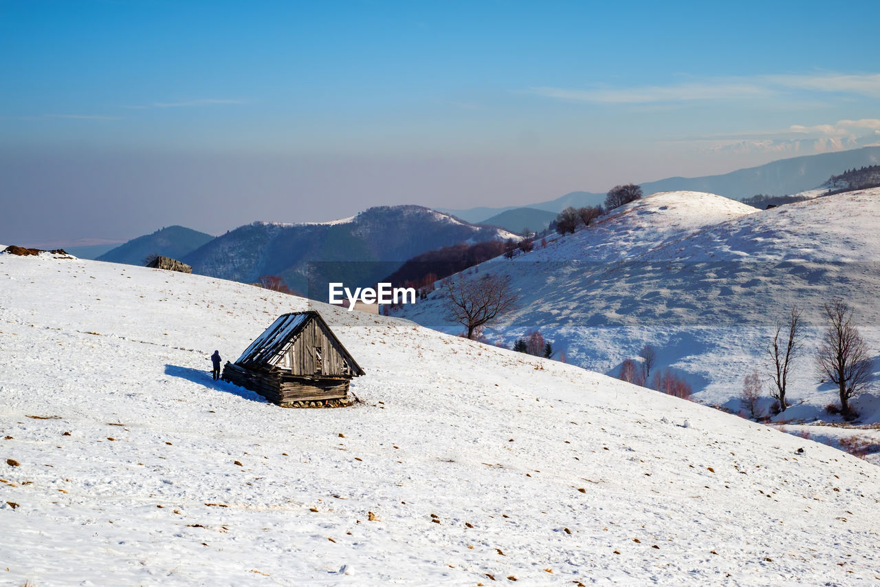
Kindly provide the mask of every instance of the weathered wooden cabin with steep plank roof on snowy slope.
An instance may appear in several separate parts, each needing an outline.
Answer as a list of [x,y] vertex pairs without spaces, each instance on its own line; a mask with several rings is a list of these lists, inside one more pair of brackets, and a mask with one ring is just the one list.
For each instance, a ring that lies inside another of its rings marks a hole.
[[227,362],[223,379],[282,407],[344,405],[348,382],[364,375],[354,357],[318,312],[293,312],[278,319]]

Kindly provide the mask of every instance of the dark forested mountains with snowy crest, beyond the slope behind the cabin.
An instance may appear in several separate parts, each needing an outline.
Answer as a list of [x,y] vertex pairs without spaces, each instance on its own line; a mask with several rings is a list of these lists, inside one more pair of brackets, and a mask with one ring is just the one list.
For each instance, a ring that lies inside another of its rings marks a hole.
[[328,281],[371,286],[426,251],[508,238],[516,234],[422,206],[378,206],[334,222],[254,222],[216,238],[168,227],[128,241],[99,260],[140,265],[157,253],[192,265],[194,273],[221,279],[253,283],[275,275],[291,289],[326,301]]

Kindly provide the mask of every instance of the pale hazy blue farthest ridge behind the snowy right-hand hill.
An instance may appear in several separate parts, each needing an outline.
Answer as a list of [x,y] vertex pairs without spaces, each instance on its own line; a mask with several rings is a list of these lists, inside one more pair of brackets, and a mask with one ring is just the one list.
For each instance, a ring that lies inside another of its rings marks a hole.
[[[850,151],[825,152],[818,155],[805,155],[792,159],[772,161],[759,167],[737,169],[729,174],[706,175],[703,177],[668,177],[657,182],[643,182],[642,191],[646,196],[659,191],[693,190],[717,194],[741,200],[756,194],[785,196],[815,189],[828,181],[832,175],[843,173],[849,168],[859,168],[880,163],[880,146],[862,147]],[[625,183],[626,181],[621,181]],[[611,186],[609,186],[610,188]],[[602,204],[605,193],[573,191],[554,200],[528,204],[527,208],[537,208],[547,212],[561,212],[563,208]],[[470,208],[468,210],[447,210],[468,222],[488,223],[488,219],[501,212],[517,209],[517,206],[500,208]]]

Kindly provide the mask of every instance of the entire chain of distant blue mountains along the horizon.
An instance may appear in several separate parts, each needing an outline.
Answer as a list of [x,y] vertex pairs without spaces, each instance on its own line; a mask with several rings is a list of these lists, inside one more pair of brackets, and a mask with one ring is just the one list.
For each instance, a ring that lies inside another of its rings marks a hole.
[[[794,194],[817,188],[847,169],[871,166],[877,161],[880,147],[864,147],[778,160],[725,175],[645,182],[642,189],[646,195],[691,189],[739,199],[755,194]],[[569,205],[595,205],[604,200],[605,194],[574,191],[525,208],[458,211],[458,218],[422,206],[379,206],[351,219],[329,223],[256,222],[216,238],[174,226],[128,241],[98,258],[143,264],[144,257],[155,253],[190,264],[196,273],[246,283],[276,275],[294,290],[323,300],[327,281],[370,286],[399,269],[407,259],[429,250],[464,241],[513,238],[524,228],[543,229]]]

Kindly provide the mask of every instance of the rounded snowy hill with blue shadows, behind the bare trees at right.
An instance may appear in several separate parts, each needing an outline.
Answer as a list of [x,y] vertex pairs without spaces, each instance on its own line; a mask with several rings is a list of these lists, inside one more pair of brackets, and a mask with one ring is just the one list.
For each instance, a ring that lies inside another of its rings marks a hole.
[[[763,368],[762,346],[775,321],[800,306],[811,324],[808,353],[789,390],[798,405],[781,418],[809,420],[826,417],[823,408],[835,401],[812,367],[821,304],[847,301],[869,347],[880,349],[877,261],[880,189],[768,211],[711,194],[667,192],[477,271],[510,275],[521,294],[521,308],[488,331],[489,340],[510,346],[538,330],[569,362],[610,375],[652,344],[658,367],[686,376],[700,401],[735,412],[745,375]],[[444,318],[442,296],[404,307],[400,316],[458,332]],[[863,421],[880,421],[877,396],[875,386],[859,400]]]

